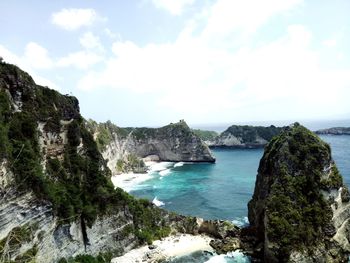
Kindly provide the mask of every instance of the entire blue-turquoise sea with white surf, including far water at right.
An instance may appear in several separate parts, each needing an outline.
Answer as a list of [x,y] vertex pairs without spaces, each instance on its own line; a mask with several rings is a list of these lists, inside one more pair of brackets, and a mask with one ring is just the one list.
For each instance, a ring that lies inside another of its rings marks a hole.
[[[302,123],[303,124],[303,123]],[[350,126],[349,122],[304,124],[311,130]],[[331,126],[330,126],[331,125]],[[226,126],[228,127],[228,126]],[[201,127],[217,130],[218,126]],[[350,136],[322,135],[332,156],[350,186]],[[149,180],[134,185],[130,193],[147,198],[156,205],[183,215],[204,219],[224,219],[239,226],[247,225],[247,203],[251,199],[263,149],[213,149],[215,164],[161,163]],[[204,251],[172,259],[169,262],[250,262],[239,251],[211,255]]]

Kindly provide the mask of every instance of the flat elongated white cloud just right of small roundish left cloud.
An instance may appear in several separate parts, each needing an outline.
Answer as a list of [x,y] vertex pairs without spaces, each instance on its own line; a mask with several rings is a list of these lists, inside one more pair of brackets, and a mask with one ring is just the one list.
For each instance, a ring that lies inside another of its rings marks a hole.
[[93,52],[78,51],[68,54],[66,57],[57,61],[59,67],[74,66],[78,69],[88,69],[89,67],[99,63],[103,58]]

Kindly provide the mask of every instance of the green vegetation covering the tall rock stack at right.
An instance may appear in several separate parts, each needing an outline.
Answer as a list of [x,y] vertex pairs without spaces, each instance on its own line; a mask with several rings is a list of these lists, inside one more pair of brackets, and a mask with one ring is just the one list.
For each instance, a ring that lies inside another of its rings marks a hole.
[[324,236],[332,212],[320,190],[342,185],[335,165],[329,179],[322,181],[330,162],[329,145],[299,124],[276,136],[265,149],[259,173],[274,177],[266,201],[267,235],[278,244],[282,262],[293,249],[312,249]]

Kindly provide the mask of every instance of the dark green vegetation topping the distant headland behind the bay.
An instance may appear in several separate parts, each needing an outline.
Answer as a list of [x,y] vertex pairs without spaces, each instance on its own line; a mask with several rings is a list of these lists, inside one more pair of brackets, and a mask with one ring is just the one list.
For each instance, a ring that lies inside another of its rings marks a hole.
[[266,141],[270,141],[274,136],[279,134],[282,131],[282,128],[275,127],[273,125],[269,127],[263,126],[239,126],[232,125],[222,135],[232,134],[235,137],[242,138],[243,142],[254,143],[257,137],[261,137]]

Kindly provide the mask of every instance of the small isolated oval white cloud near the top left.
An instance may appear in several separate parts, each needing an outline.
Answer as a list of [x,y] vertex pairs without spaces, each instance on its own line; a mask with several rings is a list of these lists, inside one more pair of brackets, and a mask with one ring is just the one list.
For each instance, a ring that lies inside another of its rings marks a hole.
[[94,9],[62,9],[51,15],[51,22],[65,30],[77,30],[90,26],[99,19]]

